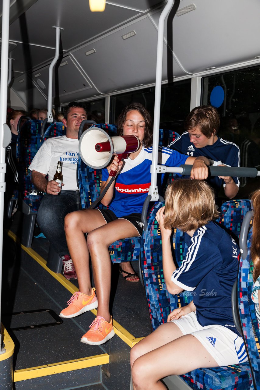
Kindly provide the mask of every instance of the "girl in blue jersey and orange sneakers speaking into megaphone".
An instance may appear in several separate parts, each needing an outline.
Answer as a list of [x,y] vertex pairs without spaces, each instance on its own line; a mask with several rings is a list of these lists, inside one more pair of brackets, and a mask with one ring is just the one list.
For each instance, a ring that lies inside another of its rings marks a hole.
[[[114,241],[142,234],[141,211],[151,181],[151,122],[149,112],[139,103],[133,103],[123,110],[118,119],[117,134],[136,135],[141,145],[136,152],[129,154],[124,163],[114,156],[110,165],[103,169],[102,190],[110,181],[110,170],[119,174],[101,200],[105,206],[109,205],[109,209],[84,209],[65,218],[64,229],[69,253],[78,275],[79,291],[72,296],[68,307],[62,310],[60,316],[75,317],[96,308],[98,298],[97,317],[81,339],[86,344],[103,344],[114,335],[109,312],[111,258],[108,248]],[[209,160],[205,157],[188,157],[160,147],[159,161],[172,167],[184,163],[193,164],[192,178],[207,177]],[[134,191],[129,191],[129,188],[134,188]],[[87,241],[85,233],[88,233]],[[97,298],[91,287],[90,257]],[[129,281],[139,280],[133,273],[130,262],[124,262],[120,271]]]

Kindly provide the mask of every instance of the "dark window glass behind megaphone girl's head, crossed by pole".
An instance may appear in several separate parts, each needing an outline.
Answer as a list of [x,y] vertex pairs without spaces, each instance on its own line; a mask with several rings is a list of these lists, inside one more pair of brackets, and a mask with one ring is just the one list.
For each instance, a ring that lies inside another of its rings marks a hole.
[[[116,123],[123,108],[130,103],[141,103],[154,115],[155,87],[127,92],[111,97],[110,122]],[[160,128],[183,131],[183,123],[190,111],[191,80],[162,85]]]

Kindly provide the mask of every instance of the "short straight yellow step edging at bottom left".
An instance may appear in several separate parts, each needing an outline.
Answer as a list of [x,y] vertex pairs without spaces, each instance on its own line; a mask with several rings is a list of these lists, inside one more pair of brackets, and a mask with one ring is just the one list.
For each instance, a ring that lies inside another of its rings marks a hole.
[[39,367],[30,367],[27,369],[14,371],[14,382],[24,381],[26,379],[32,378],[39,378],[41,376],[59,374],[61,372],[80,370],[83,368],[94,367],[107,363],[109,363],[109,355],[107,353],[104,353],[102,355],[68,360],[67,362],[58,362]]

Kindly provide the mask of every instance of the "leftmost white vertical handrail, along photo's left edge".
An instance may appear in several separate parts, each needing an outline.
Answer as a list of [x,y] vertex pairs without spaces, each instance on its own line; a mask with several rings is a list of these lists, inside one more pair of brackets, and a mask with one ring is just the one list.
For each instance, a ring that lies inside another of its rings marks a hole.
[[[0,78],[0,285],[2,285],[3,264],[3,229],[4,229],[4,193],[5,193],[5,149],[4,125],[6,124],[7,109],[7,78],[8,78],[8,48],[9,48],[9,7],[10,0],[3,0],[2,13],[2,50],[1,50],[1,78]],[[0,307],[1,307],[0,291]],[[1,315],[0,315],[1,322]],[[2,334],[0,332],[0,354],[5,353],[2,349]]]

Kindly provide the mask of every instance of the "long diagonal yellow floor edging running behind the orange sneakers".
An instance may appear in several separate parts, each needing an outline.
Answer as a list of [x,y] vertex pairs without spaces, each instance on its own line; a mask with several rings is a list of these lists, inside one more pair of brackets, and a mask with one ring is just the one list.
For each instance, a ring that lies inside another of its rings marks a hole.
[[[11,230],[8,231],[9,237],[11,237],[15,242],[17,241],[16,235],[11,232]],[[78,291],[77,287],[74,286],[73,283],[69,282],[61,273],[55,273],[50,270],[46,266],[46,260],[43,259],[40,255],[35,252],[32,248],[27,248],[26,246],[21,245],[21,248],[27,252],[35,261],[37,261],[46,271],[48,271],[51,276],[53,276],[60,284],[62,284],[71,294],[74,294],[76,291]],[[96,316],[97,310],[91,310],[92,313]],[[117,321],[113,320],[113,327],[115,330],[115,334],[120,337],[121,340],[123,340],[129,347],[133,347],[134,344],[136,344],[138,341],[143,339],[143,337],[136,338],[131,333],[129,333],[123,326],[121,326]]]

